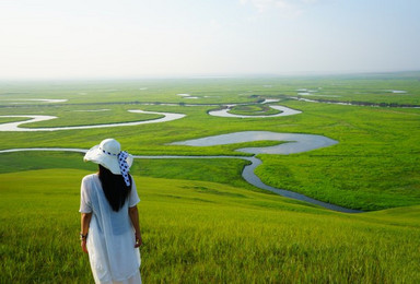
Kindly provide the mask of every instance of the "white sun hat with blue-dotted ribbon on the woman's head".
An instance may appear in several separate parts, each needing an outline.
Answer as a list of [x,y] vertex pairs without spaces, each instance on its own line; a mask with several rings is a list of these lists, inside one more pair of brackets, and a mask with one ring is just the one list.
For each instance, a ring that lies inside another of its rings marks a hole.
[[122,175],[124,179],[128,180],[128,170],[132,165],[133,157],[125,151],[121,151],[121,145],[115,139],[105,139],[101,144],[91,147],[83,157],[84,162],[91,161],[100,164],[110,170],[114,175]]

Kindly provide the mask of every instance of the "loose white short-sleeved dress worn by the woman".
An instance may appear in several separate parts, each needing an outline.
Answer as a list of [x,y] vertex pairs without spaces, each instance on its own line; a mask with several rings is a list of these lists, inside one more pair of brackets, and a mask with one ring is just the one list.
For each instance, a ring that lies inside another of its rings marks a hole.
[[141,283],[140,251],[128,209],[139,203],[135,180],[124,206],[115,212],[106,200],[97,174],[81,185],[80,213],[91,213],[86,247],[95,283]]

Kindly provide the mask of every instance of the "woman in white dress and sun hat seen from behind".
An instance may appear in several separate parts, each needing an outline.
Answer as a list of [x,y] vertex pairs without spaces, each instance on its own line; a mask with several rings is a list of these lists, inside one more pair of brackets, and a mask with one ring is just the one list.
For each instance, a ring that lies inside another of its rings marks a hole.
[[97,174],[82,179],[79,210],[81,247],[89,253],[95,283],[141,283],[140,199],[128,173],[133,158],[118,141],[105,139],[83,159],[100,165]]

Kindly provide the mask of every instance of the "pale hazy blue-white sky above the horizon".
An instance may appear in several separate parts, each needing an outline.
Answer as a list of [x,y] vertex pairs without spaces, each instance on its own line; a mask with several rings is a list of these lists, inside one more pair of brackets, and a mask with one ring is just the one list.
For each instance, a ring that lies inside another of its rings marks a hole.
[[0,79],[420,70],[419,0],[1,0]]

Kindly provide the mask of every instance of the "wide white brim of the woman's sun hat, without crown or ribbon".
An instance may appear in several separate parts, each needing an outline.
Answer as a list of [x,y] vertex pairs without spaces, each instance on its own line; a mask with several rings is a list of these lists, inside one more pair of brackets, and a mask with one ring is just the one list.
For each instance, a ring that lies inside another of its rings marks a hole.
[[[109,169],[110,173],[113,173],[114,175],[121,175],[121,170],[119,169],[118,157],[105,154],[100,150],[100,145],[91,147],[84,155],[83,161],[100,164]],[[126,162],[128,164],[128,167],[130,168],[133,162],[132,155],[128,154]]]

